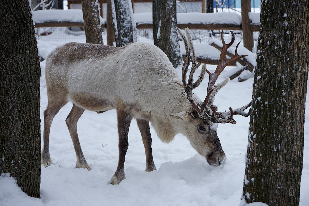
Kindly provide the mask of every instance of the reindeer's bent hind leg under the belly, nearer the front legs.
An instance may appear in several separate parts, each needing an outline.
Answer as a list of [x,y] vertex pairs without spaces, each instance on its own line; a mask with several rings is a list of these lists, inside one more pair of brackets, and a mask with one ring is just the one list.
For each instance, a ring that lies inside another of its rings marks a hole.
[[78,107],[76,104],[73,103],[73,107],[66,118],[66,125],[68,126],[70,136],[72,138],[72,142],[74,145],[75,153],[76,153],[76,168],[87,168],[91,170],[91,167],[88,165],[82,148],[79,143],[78,134],[77,134],[77,122],[78,119],[82,116],[85,110],[81,107]]

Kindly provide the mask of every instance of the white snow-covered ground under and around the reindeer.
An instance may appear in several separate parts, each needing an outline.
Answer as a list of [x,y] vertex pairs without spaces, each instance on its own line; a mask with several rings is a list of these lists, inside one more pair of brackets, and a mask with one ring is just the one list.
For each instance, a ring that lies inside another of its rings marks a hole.
[[[106,39],[104,40],[106,42]],[[182,43],[182,42],[180,42]],[[49,53],[60,43],[39,42],[41,53]],[[152,43],[153,44],[153,43]],[[45,61],[41,62],[41,137],[43,111],[47,106]],[[177,71],[180,73],[181,68]],[[200,70],[196,71],[197,78]],[[194,92],[206,96],[208,75]],[[222,75],[224,76],[224,75]],[[223,77],[219,77],[218,82]],[[216,95],[220,111],[250,102],[253,79],[230,81]],[[309,105],[307,97],[306,104]],[[113,186],[109,181],[118,163],[116,111],[102,114],[85,111],[78,121],[79,140],[92,170],[76,169],[76,156],[65,119],[71,110],[68,103],[55,116],[50,132],[49,151],[53,165],[41,167],[41,200],[21,191],[12,177],[0,177],[1,206],[56,205],[239,205],[245,170],[249,117],[235,116],[237,124],[219,124],[218,137],[226,153],[226,163],[212,167],[192,148],[183,135],[170,144],[162,143],[151,128],[154,162],[158,170],[146,173],[145,151],[136,121],[129,130],[129,149],[125,160],[126,179]],[[306,116],[309,117],[308,107]],[[43,142],[43,139],[41,139]],[[43,145],[42,145],[43,146]],[[305,122],[304,164],[300,205],[309,202],[309,121]]]

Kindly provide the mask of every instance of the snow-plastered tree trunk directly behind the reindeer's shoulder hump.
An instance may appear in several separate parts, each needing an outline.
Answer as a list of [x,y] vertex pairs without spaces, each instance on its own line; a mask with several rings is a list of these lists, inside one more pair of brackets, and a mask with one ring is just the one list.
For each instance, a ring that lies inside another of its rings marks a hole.
[[132,23],[133,10],[131,1],[114,0],[113,5],[117,23],[115,24],[117,25],[117,30],[115,29],[116,46],[121,47],[136,42],[136,27],[133,27]]

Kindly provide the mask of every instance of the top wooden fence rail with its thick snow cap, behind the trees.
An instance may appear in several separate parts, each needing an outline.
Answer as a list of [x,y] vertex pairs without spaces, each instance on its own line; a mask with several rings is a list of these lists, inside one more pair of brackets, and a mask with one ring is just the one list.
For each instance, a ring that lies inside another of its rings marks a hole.
[[[258,31],[260,14],[249,13],[249,17],[252,21],[251,30]],[[36,27],[57,27],[59,25],[83,27],[84,22],[81,9],[33,11],[32,18]],[[133,18],[138,29],[152,28],[152,13],[133,14]],[[100,17],[100,20],[102,25],[106,23],[106,19]],[[242,30],[241,15],[235,12],[178,13],[177,24],[180,29],[188,27],[207,30]]]

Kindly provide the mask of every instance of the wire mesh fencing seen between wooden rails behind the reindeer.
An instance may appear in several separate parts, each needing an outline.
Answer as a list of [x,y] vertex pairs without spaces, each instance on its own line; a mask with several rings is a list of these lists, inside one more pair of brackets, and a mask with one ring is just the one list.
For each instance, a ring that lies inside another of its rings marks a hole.
[[[65,1],[64,1],[65,2]],[[80,1],[68,0],[68,8],[70,9],[81,9]],[[66,2],[65,2],[66,4]],[[252,0],[253,11],[259,11],[255,9],[256,1]],[[203,12],[206,11],[206,0],[180,0],[176,1],[177,13],[188,13],[188,12]],[[214,0],[214,12],[241,12],[235,0]],[[66,5],[65,5],[66,7]],[[106,19],[106,0],[99,0],[100,15]],[[132,0],[133,13],[146,13],[152,12],[152,1],[151,0]],[[252,11],[252,12],[253,12]],[[212,39],[220,39],[219,30],[190,30],[194,43],[208,44]],[[242,31],[236,30],[235,42],[239,42],[243,39]],[[68,42],[81,42],[86,43],[85,31],[83,27],[42,27],[36,28],[36,34],[38,40],[50,43],[65,44]],[[106,43],[106,29],[104,29],[103,39]],[[138,29],[137,30],[138,41],[149,42],[153,44],[153,31],[152,29]],[[254,32],[254,40],[257,40],[258,32]],[[226,41],[231,40],[231,34],[229,31],[224,32],[224,39]],[[208,65],[208,69],[215,69],[215,65]],[[232,67],[231,67],[232,68]],[[231,69],[231,68],[227,68]]]

